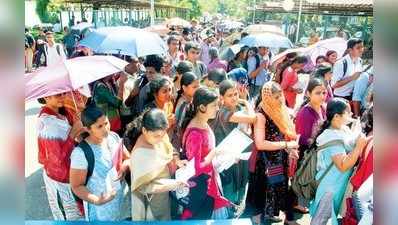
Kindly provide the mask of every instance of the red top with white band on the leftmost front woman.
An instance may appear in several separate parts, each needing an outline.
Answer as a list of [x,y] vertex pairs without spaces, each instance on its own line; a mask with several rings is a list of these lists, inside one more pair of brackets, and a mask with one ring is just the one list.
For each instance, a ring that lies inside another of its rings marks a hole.
[[69,137],[72,116],[43,107],[39,114],[38,148],[39,163],[43,164],[48,177],[69,183],[70,155],[75,141]]

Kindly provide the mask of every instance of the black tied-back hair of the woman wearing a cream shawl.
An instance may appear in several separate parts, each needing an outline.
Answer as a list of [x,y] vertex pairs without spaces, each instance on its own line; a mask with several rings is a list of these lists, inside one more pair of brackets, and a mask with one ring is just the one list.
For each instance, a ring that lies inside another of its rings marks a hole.
[[168,127],[167,118],[160,109],[148,109],[132,122],[127,124],[123,135],[123,143],[131,151],[142,134],[142,128],[148,131],[165,130]]

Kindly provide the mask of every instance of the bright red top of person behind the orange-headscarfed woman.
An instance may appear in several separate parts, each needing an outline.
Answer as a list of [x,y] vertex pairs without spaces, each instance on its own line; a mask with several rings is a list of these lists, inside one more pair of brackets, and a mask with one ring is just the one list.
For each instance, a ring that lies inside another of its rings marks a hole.
[[297,93],[295,91],[288,90],[288,88],[294,86],[297,81],[297,72],[293,70],[292,67],[289,66],[285,71],[283,71],[281,87],[287,102],[287,107],[289,108],[294,108]]

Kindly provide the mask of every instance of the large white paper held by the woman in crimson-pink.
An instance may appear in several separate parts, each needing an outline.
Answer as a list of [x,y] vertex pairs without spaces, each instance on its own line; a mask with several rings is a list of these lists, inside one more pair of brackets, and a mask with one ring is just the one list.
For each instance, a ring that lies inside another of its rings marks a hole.
[[231,167],[251,143],[253,140],[250,137],[237,128],[233,129],[216,148],[217,156],[213,165],[217,171],[220,173]]

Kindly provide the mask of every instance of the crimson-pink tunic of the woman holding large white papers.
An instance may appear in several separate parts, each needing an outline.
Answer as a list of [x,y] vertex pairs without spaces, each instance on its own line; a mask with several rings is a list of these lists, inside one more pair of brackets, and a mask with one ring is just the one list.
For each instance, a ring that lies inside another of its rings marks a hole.
[[[204,158],[215,148],[215,137],[212,132],[196,127],[187,128],[184,132],[185,151],[188,160],[195,160],[195,176],[202,173],[210,176],[207,186],[207,194],[214,198],[214,209],[219,209],[230,205],[230,202],[221,196],[216,180],[216,171],[213,164],[203,165]],[[184,142],[183,142],[184,143]],[[183,219],[187,219],[190,213],[183,213]],[[185,216],[184,216],[185,215]],[[185,217],[185,218],[184,218]]]

